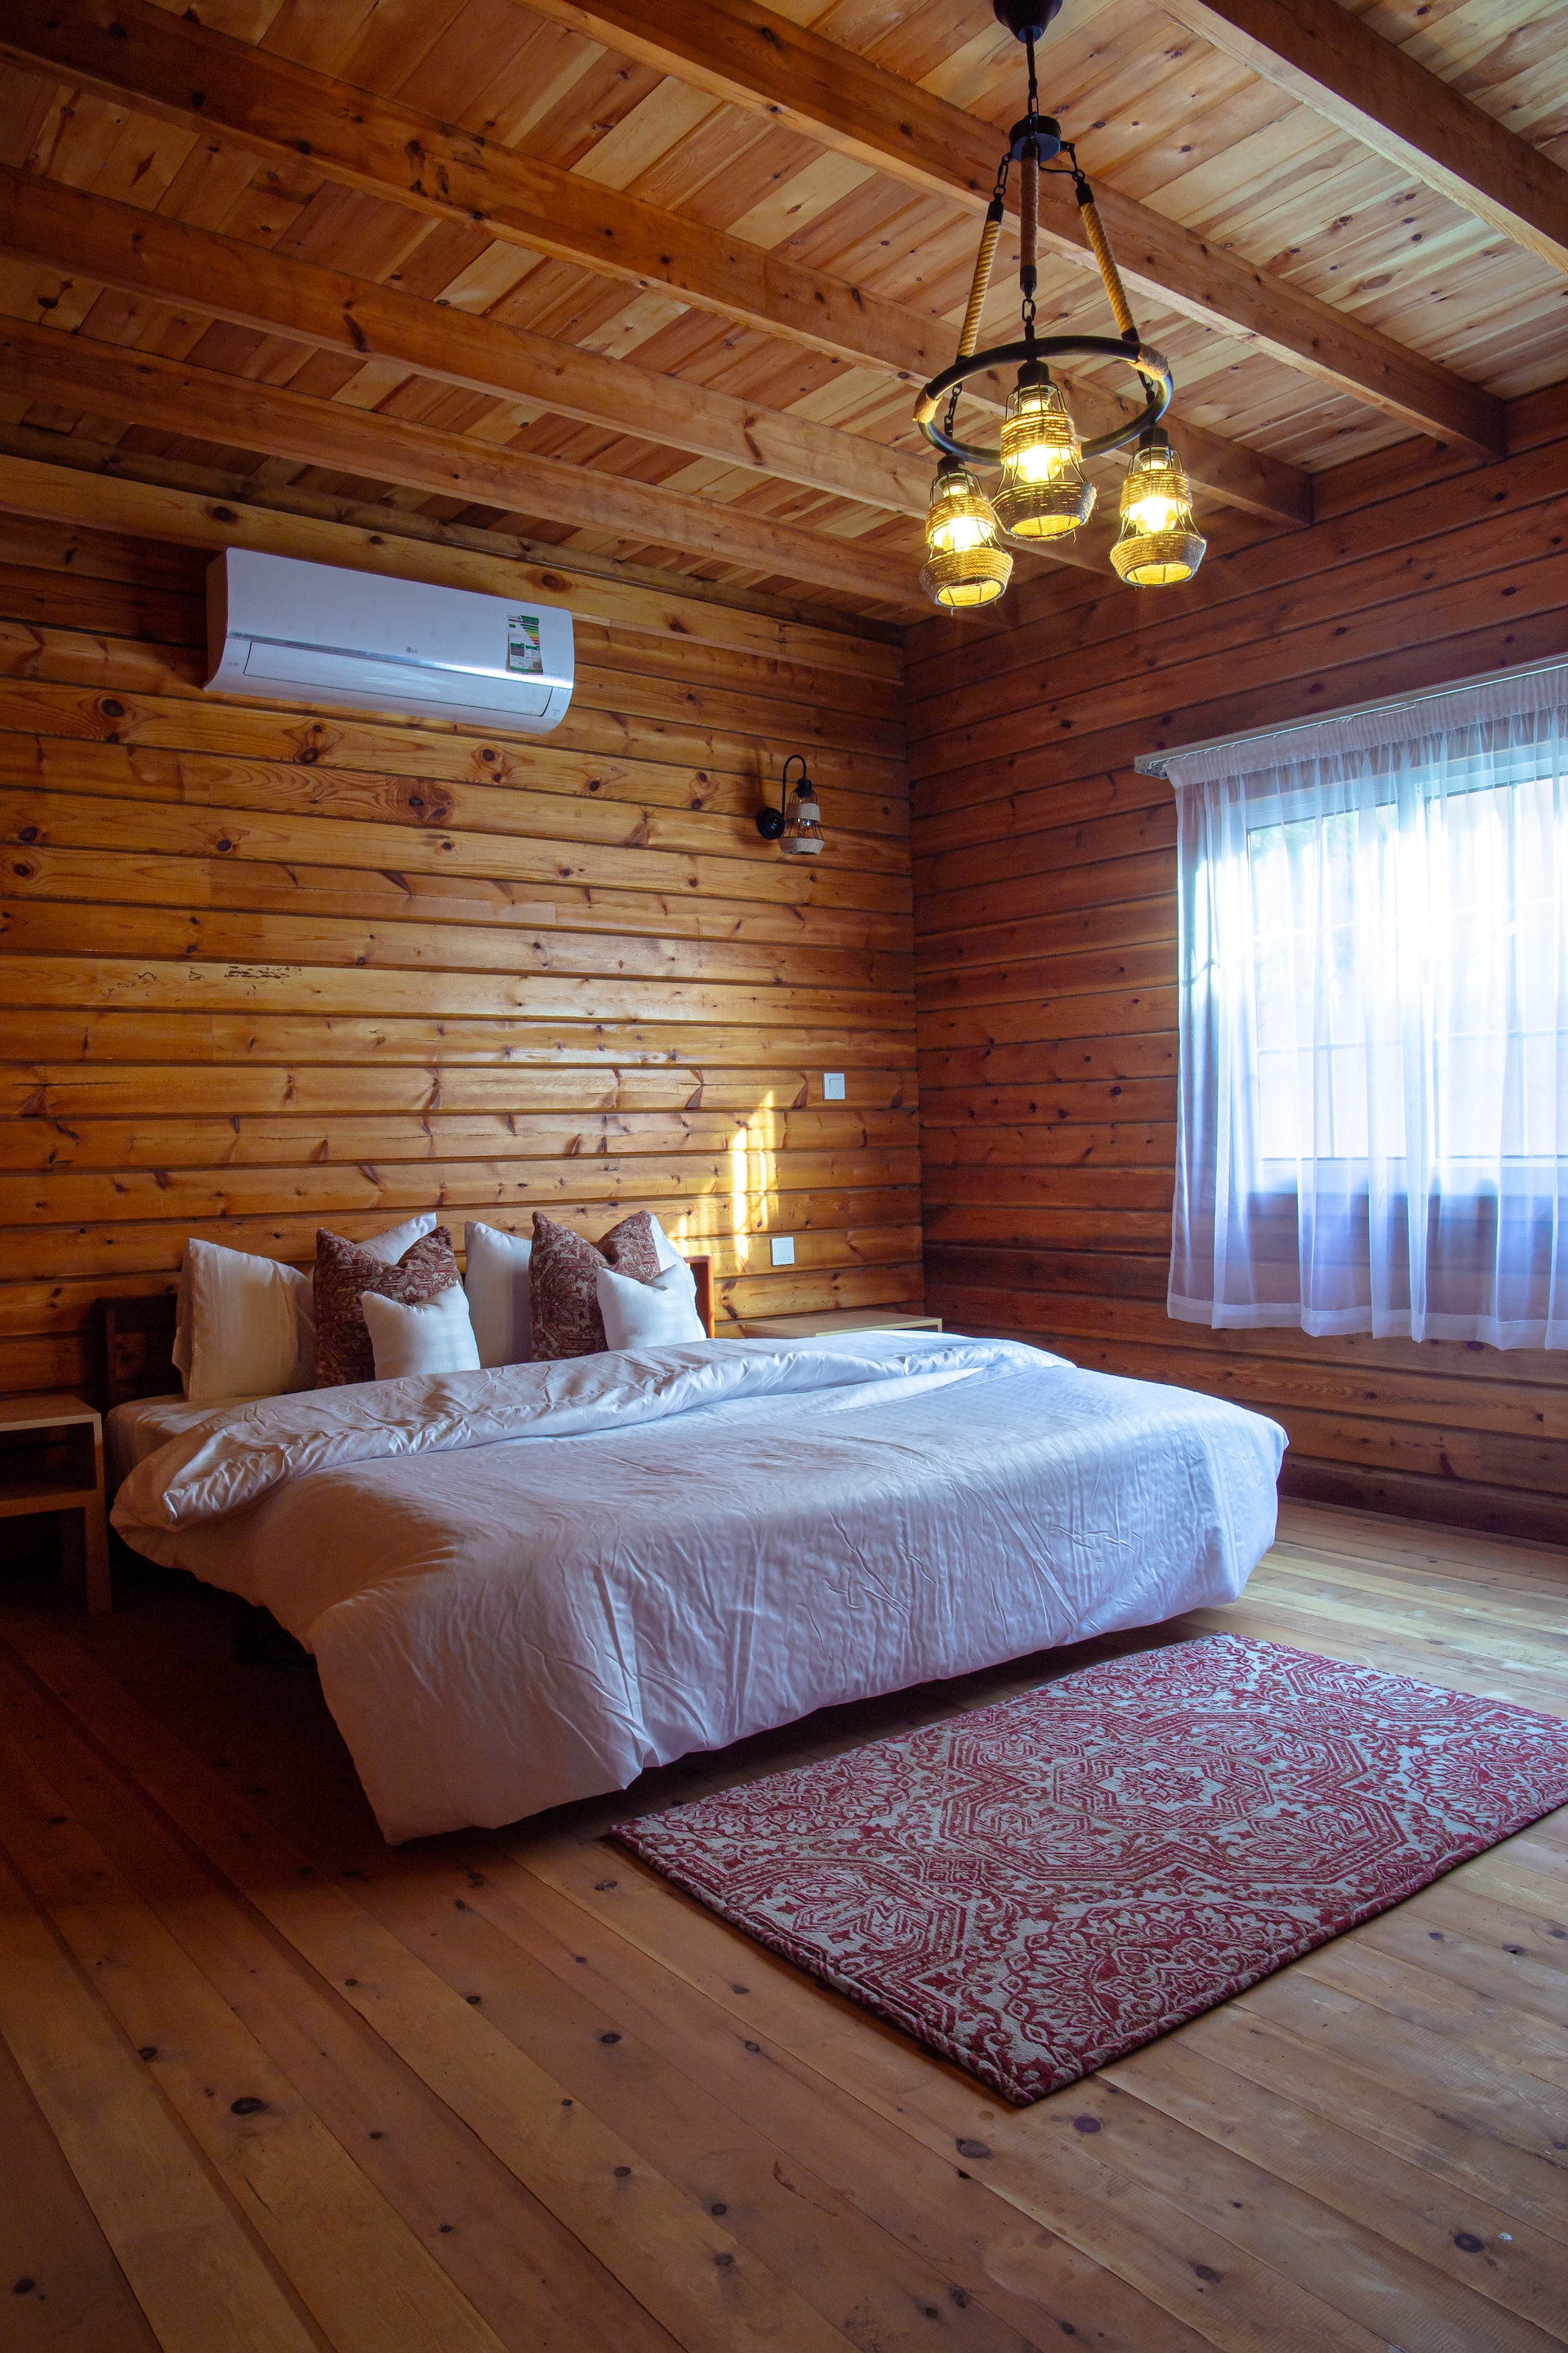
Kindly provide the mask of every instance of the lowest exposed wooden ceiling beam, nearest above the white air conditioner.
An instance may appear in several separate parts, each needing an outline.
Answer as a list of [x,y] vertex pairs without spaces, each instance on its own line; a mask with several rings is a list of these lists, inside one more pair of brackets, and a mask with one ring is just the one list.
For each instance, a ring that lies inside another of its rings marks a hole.
[[684,548],[764,579],[835,588],[867,605],[922,605],[907,558],[877,555],[851,539],[54,327],[2,325],[0,384],[54,407],[125,416],[162,433],[400,482],[440,499]]

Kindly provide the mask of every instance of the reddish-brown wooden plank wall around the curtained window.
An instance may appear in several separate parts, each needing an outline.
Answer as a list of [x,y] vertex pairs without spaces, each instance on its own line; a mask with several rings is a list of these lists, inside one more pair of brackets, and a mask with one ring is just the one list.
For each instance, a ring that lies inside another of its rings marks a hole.
[[[1166,1318],[1175,824],[1138,753],[1568,652],[1568,400],[1516,454],[1319,475],[1147,600],[1039,581],[910,638],[926,1306],[1291,1433],[1295,1494],[1568,1539],[1568,1355]],[[1371,501],[1371,504],[1368,504]]]

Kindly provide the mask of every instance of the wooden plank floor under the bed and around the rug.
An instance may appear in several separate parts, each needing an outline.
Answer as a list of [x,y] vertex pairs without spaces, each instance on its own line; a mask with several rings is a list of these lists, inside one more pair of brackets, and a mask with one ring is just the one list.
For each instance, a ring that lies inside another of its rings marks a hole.
[[[1088,1652],[388,1852],[315,1682],[127,1588],[0,1605],[5,2348],[1568,2344],[1568,1812],[1011,2111],[599,1833]],[[1568,1715],[1563,1553],[1291,1504],[1218,1626]]]

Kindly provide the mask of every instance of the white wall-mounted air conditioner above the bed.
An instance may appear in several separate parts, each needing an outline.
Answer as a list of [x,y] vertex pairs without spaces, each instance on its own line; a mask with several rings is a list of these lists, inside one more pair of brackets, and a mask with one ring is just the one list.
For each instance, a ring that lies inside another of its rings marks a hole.
[[207,567],[207,687],[548,734],[571,708],[571,614],[228,548]]

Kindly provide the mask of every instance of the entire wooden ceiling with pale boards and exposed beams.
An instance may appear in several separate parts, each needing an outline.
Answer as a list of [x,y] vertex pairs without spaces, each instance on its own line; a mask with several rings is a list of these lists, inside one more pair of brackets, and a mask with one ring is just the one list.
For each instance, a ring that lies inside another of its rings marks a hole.
[[[1023,111],[990,0],[7,0],[2,31],[2,452],[929,609],[910,388]],[[1507,400],[1568,376],[1568,0],[1067,0],[1041,99],[1220,544],[1413,435],[1500,454]],[[1107,332],[1046,188],[1041,322]],[[1013,306],[999,266],[987,329]],[[1088,431],[1117,391],[1074,376]]]

